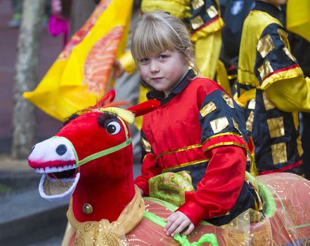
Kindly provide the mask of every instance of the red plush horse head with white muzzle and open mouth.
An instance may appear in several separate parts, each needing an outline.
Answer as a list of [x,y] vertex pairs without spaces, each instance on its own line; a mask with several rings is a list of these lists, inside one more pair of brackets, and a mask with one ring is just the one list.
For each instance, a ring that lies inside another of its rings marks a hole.
[[[34,145],[29,155],[30,167],[42,174],[41,197],[53,201],[72,196],[79,221],[115,221],[135,195],[128,123],[159,102],[124,110],[112,103],[114,96],[109,91],[94,107],[69,117],[58,134]],[[115,194],[122,194],[121,199]]]

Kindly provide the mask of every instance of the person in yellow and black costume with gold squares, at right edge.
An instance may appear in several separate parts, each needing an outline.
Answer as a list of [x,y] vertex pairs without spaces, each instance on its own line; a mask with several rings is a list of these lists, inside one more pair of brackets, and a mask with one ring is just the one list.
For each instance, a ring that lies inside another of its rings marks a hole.
[[[303,174],[298,111],[310,112],[310,79],[290,52],[280,4],[255,1],[243,23],[238,61],[247,129],[255,143],[256,174]],[[255,174],[255,165],[250,167]]]

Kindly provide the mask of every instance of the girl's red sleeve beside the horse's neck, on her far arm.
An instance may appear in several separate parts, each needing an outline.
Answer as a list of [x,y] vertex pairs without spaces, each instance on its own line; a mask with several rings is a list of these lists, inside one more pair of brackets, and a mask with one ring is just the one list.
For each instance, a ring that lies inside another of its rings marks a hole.
[[145,155],[141,167],[141,175],[135,179],[135,184],[143,190],[145,195],[149,195],[149,179],[151,177],[161,174],[161,169],[157,167],[156,156],[151,153]]

